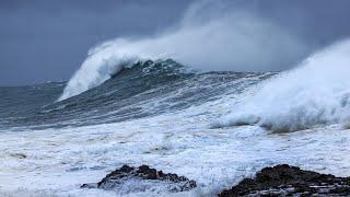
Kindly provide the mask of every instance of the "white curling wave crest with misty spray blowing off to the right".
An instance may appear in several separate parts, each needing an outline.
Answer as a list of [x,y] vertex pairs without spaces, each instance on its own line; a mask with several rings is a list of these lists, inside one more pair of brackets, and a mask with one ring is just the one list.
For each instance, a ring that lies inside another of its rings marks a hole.
[[59,101],[100,85],[136,60],[173,58],[207,71],[276,71],[296,63],[308,50],[291,32],[253,12],[225,9],[222,1],[198,1],[163,33],[92,48]]

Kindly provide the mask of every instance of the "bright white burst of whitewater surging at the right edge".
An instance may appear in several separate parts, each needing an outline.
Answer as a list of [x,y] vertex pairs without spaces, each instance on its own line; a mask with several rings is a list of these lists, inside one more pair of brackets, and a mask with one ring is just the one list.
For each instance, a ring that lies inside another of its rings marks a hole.
[[264,83],[214,126],[293,131],[350,120],[350,40],[320,50]]

